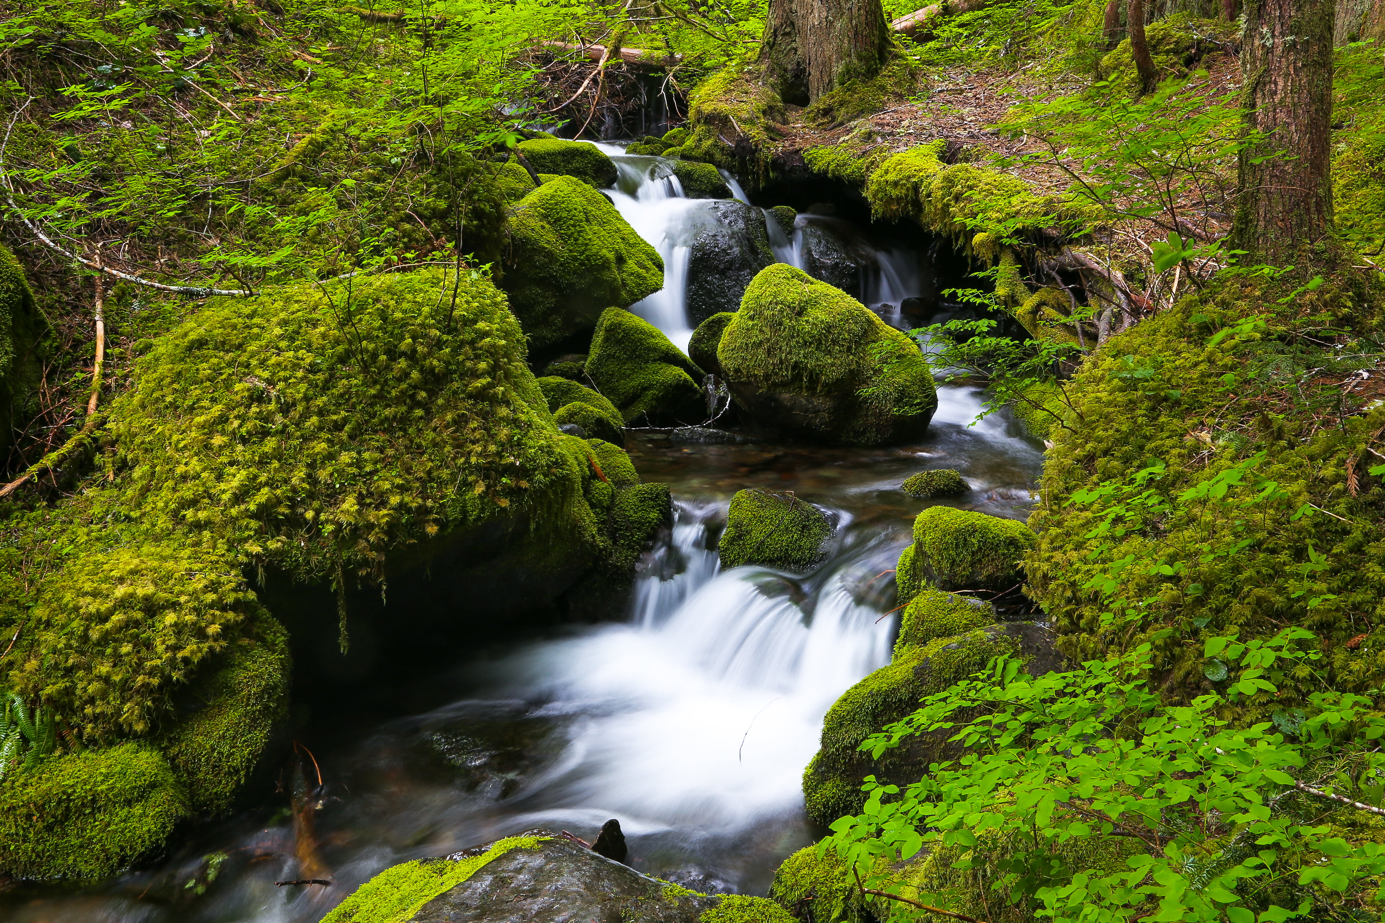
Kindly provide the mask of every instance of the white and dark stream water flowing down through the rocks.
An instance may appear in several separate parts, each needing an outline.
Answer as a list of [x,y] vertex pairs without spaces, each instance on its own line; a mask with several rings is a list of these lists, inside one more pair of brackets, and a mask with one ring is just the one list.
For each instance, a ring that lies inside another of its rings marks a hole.
[[[665,291],[634,310],[686,346],[688,234],[708,202],[684,198],[666,162],[605,149],[622,176],[616,208],[666,264]],[[814,220],[801,216],[792,238],[770,220],[776,255],[802,264]],[[897,321],[899,302],[917,293],[920,256],[875,256],[863,288]],[[431,679],[432,700],[447,704],[424,714],[299,728],[324,780],[299,798],[314,808],[312,837],[284,797],[283,808],[202,828],[154,868],[101,887],[0,894],[0,917],[310,923],[396,862],[535,826],[591,839],[607,818],[620,821],[641,870],[763,894],[776,865],[823,833],[802,812],[799,778],[824,713],[889,659],[891,572],[925,505],[899,483],[956,468],[974,486],[958,505],[1028,511],[1037,447],[1006,414],[970,425],[981,408],[974,387],[943,386],[939,400],[924,439],[888,448],[687,446],[633,433],[636,466],[670,484],[676,518],[641,562],[623,621],[458,649]],[[827,563],[807,576],[720,570],[716,536],[744,487],[794,490],[825,509],[838,524]],[[276,886],[307,876],[332,884]]]

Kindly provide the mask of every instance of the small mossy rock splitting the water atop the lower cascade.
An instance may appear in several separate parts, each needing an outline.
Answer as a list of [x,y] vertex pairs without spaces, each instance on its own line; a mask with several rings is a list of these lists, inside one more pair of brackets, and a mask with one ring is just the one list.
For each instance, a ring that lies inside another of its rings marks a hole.
[[810,570],[825,556],[832,524],[817,506],[794,494],[737,491],[717,551],[722,567],[765,565]]

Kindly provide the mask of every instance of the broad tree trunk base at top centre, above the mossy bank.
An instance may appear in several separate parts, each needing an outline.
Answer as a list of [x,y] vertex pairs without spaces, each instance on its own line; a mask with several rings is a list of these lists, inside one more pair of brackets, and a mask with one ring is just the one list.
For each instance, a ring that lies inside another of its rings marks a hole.
[[889,57],[881,0],[770,0],[760,64],[785,102],[807,105]]

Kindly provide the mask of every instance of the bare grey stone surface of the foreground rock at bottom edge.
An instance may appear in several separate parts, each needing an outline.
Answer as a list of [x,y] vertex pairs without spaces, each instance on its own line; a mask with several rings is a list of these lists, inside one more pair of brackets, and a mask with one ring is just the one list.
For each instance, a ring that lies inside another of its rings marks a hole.
[[548,830],[524,836],[550,839],[492,859],[424,904],[410,923],[697,923],[722,901],[640,875]]

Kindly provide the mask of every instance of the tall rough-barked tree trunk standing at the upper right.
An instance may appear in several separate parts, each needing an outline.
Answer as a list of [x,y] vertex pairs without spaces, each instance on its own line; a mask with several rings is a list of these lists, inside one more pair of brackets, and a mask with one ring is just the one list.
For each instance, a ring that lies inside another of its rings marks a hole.
[[1231,244],[1246,262],[1314,263],[1332,223],[1332,1],[1246,0],[1240,198]]

